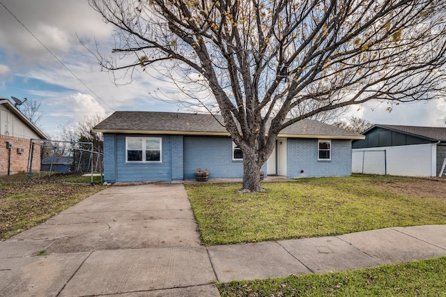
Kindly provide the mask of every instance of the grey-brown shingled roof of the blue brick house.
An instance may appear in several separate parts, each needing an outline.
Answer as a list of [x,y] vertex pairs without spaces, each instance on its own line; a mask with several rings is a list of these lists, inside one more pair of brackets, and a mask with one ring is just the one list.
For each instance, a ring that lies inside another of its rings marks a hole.
[[[216,119],[215,119],[216,118]],[[221,115],[176,112],[114,112],[96,125],[96,132],[166,133],[187,135],[229,135]],[[287,137],[325,136],[339,139],[364,139],[363,135],[314,120],[302,120],[279,133]]]

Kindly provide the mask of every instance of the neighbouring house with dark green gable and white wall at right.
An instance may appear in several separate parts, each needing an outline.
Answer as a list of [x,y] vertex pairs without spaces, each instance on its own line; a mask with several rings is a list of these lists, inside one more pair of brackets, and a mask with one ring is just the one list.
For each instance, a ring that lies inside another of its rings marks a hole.
[[438,176],[446,158],[446,128],[374,125],[354,140],[353,172]]

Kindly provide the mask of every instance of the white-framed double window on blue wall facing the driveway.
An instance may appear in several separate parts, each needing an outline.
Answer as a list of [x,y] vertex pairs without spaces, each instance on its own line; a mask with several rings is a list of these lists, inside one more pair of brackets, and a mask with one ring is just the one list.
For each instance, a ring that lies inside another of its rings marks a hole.
[[161,137],[125,137],[126,162],[161,162]]

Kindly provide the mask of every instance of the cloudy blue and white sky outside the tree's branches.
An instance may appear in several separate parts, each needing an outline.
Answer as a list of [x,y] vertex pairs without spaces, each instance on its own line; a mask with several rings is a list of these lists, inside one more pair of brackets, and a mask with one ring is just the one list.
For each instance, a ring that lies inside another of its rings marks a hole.
[[[79,42],[94,49],[96,41],[108,54],[112,34],[112,26],[103,23],[86,0],[0,0],[0,98],[40,102],[44,115],[38,125],[50,137],[88,115],[178,111],[180,106],[153,95],[177,92],[155,79],[155,73],[136,73],[131,84],[121,80],[123,85],[116,86]],[[392,112],[387,107],[369,102],[352,107],[350,114],[371,123],[446,126],[445,100],[393,105]]]

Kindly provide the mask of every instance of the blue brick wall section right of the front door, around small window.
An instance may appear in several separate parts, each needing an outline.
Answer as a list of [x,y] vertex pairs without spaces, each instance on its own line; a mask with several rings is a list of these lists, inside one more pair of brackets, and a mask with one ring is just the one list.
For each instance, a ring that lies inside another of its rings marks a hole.
[[318,139],[289,138],[287,153],[289,178],[351,175],[351,140],[332,139],[330,161],[318,161]]

